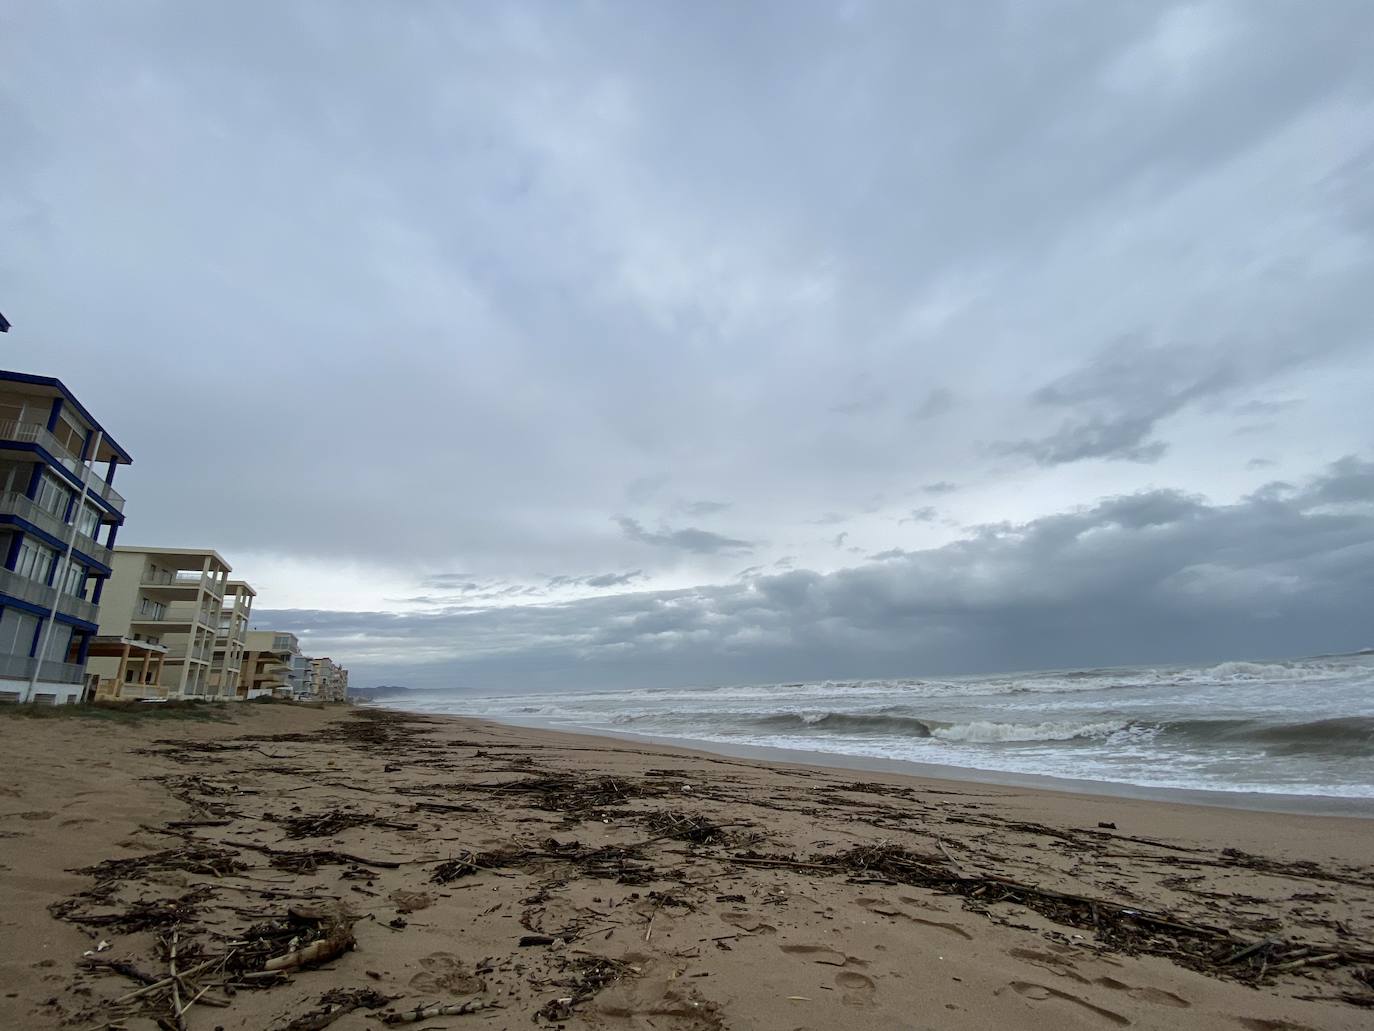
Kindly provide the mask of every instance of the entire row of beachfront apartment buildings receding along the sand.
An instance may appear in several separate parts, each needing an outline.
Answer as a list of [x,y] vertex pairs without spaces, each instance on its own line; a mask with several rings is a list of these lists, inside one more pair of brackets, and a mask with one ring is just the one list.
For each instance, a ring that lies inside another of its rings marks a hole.
[[0,701],[345,700],[346,669],[250,630],[218,553],[115,546],[131,462],[59,379],[0,370]]

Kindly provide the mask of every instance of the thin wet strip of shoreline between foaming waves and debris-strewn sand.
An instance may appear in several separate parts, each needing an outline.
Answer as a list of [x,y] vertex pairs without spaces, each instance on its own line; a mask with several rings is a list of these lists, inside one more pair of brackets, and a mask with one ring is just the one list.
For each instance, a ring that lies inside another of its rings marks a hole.
[[1035,790],[1055,792],[1058,795],[1135,799],[1140,801],[1208,806],[1252,812],[1374,819],[1374,797],[1355,797],[1345,795],[1292,795],[1283,792],[1228,792],[1210,790],[1205,788],[1161,788],[1154,785],[1127,784],[1124,781],[1090,781],[1070,777],[1052,777],[1050,774],[982,770],[971,766],[919,763],[907,759],[885,759],[882,756],[852,755],[846,752],[731,744],[728,741],[706,741],[701,738],[665,737],[660,734],[636,734],[628,730],[583,727],[534,719],[515,720],[458,712],[430,712],[423,709],[409,709],[404,705],[390,705],[386,701],[365,701],[359,704],[363,707],[394,709],[397,712],[411,712],[420,716],[474,720],[480,723],[493,723],[496,726],[522,727],[526,730],[576,734],[578,737],[599,738],[605,741],[635,741],[640,744],[658,745],[661,748],[684,748],[705,755],[730,756],[732,759],[754,759],[764,763],[786,763],[791,766],[827,767],[860,773],[890,773],[914,779],[938,779],[951,781],[954,784],[1033,788]]

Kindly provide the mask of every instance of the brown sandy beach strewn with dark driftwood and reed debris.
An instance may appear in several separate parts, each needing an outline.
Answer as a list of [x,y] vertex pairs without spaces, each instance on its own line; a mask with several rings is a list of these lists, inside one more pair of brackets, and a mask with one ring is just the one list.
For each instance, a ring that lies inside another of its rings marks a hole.
[[1374,1027],[1371,821],[231,713],[0,719],[0,1027]]

